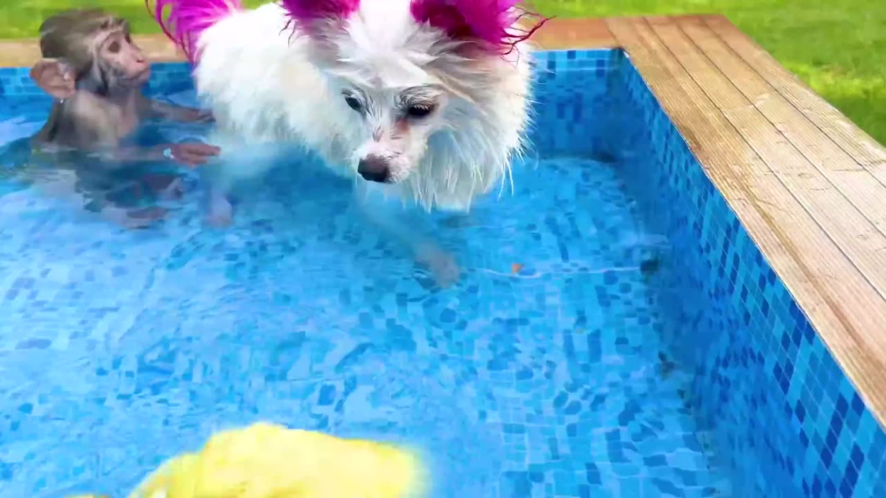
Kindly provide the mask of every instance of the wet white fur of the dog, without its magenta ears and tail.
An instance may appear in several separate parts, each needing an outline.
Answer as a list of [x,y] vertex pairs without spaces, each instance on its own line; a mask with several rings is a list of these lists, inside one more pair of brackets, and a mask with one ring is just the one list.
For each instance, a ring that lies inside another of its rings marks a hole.
[[[195,81],[217,123],[216,185],[223,190],[262,174],[272,161],[257,159],[256,145],[268,145],[270,157],[281,142],[318,153],[357,183],[367,183],[356,173],[361,156],[395,157],[396,183],[372,188],[428,209],[466,210],[507,184],[529,121],[530,47],[463,58],[408,10],[408,0],[363,0],[346,31],[330,31],[330,43],[319,48],[287,27],[277,4],[232,13],[206,29]],[[440,89],[439,112],[401,136],[393,96],[425,85]],[[376,98],[376,116],[363,119],[346,104],[342,91],[351,88]]]

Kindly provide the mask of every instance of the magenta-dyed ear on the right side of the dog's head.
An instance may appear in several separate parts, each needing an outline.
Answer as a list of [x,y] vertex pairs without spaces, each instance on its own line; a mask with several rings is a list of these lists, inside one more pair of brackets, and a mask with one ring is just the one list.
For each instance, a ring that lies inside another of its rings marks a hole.
[[528,31],[515,31],[514,23],[530,12],[515,9],[519,0],[412,0],[412,17],[436,27],[455,40],[478,42],[487,51],[508,53],[529,38],[547,19]]

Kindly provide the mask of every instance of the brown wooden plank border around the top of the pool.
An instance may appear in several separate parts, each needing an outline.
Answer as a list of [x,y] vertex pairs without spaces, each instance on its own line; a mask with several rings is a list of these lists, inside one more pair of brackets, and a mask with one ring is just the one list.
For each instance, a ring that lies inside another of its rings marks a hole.
[[[163,35],[136,40],[183,61]],[[623,49],[881,426],[886,148],[721,15],[552,19],[542,50]],[[0,41],[31,66],[35,39]]]

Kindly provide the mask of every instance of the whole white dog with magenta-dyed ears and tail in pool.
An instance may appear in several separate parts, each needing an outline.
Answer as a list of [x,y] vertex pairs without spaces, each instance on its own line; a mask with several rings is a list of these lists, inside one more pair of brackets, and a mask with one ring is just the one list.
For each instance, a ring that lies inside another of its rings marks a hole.
[[540,22],[515,4],[282,0],[245,11],[238,0],[157,0],[229,159],[214,178],[211,218],[229,221],[221,194],[271,163],[254,160],[255,146],[273,153],[280,143],[316,152],[362,189],[469,209],[509,178],[525,144],[527,39]]

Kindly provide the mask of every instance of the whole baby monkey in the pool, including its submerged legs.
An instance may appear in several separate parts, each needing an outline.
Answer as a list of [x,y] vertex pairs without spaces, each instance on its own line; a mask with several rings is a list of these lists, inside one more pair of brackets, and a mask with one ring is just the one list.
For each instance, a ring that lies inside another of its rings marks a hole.
[[[211,114],[144,96],[151,66],[133,42],[126,19],[100,9],[74,9],[45,19],[39,31],[42,58],[30,76],[53,102],[43,128],[29,140],[30,147],[41,152],[86,152],[74,167],[72,188],[91,199],[93,210],[113,213],[115,219],[136,227],[162,218],[166,210],[161,208],[120,214],[113,200],[120,198],[114,177],[138,163],[206,164],[218,155],[218,147],[201,142],[157,144],[162,141],[156,130],[151,133],[142,125],[152,120],[208,122]],[[136,196],[145,189],[161,197],[182,195],[175,175],[130,177],[128,184]]]

